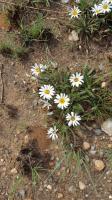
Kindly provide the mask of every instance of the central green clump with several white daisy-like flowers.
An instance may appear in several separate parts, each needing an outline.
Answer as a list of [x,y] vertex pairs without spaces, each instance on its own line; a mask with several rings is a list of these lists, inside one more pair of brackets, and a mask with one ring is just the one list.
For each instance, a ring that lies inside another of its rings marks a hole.
[[112,114],[112,93],[102,84],[104,75],[97,76],[87,66],[72,73],[40,64],[35,68],[36,73],[34,67],[31,71],[38,78],[38,95],[54,119],[54,126],[48,130],[52,140],[58,139],[58,131],[72,134],[74,128]]

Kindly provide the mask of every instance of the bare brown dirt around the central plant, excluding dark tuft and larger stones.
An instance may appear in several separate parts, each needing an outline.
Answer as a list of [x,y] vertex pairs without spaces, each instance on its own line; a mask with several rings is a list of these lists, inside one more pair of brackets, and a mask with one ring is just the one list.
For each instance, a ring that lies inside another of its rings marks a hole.
[[[59,67],[70,67],[72,70],[80,70],[84,64],[98,69],[98,66],[103,64],[103,70],[108,71],[111,67],[109,56],[112,47],[98,46],[91,42],[89,52],[77,48],[73,50],[64,27],[60,34],[57,46],[44,48],[35,43],[34,52],[24,62],[0,55],[4,84],[4,104],[0,105],[0,200],[57,200],[58,193],[63,194],[63,200],[108,200],[112,195],[112,171],[108,163],[105,163],[103,172],[95,172],[93,168],[93,159],[104,159],[100,151],[108,148],[111,140],[104,134],[87,137],[91,144],[96,144],[97,150],[97,154],[90,158],[90,169],[73,174],[71,171],[76,166],[72,160],[70,169],[66,169],[65,162],[62,161],[64,152],[61,144],[51,143],[46,138],[48,117],[38,103],[38,97],[33,94],[33,88],[37,86],[30,79],[32,64],[46,62],[47,59],[57,62]],[[2,31],[0,35],[3,37]],[[33,127],[32,132],[28,131],[29,127]],[[33,139],[38,142],[43,154],[51,154],[48,170],[39,173],[40,178],[35,186],[31,177],[22,174],[17,162],[21,147],[27,146],[26,143]],[[61,167],[51,173],[54,164],[60,160]],[[11,172],[14,168],[17,173]],[[17,181],[17,176],[20,182]],[[85,183],[85,190],[79,189],[79,181]],[[51,185],[52,189],[47,189],[47,185]],[[21,190],[25,191],[23,197],[20,195]]]

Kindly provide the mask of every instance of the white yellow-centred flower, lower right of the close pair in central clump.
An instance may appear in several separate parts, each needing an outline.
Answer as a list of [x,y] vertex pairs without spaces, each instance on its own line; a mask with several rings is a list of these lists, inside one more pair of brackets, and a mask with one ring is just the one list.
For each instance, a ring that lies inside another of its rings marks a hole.
[[69,101],[70,101],[70,99],[69,99],[68,95],[66,95],[66,94],[64,94],[64,93],[61,93],[60,95],[57,94],[57,95],[56,95],[56,99],[54,100],[54,102],[55,102],[56,104],[58,104],[57,107],[58,107],[58,108],[61,108],[62,110],[63,110],[64,108],[67,108],[67,107],[68,107]]

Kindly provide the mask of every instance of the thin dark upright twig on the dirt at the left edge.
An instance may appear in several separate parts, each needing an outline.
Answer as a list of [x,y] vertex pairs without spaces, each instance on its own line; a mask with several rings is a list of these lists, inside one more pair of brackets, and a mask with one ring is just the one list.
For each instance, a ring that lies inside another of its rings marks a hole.
[[0,104],[3,104],[3,97],[4,97],[4,83],[3,83],[3,64],[1,65],[1,69],[0,69]]

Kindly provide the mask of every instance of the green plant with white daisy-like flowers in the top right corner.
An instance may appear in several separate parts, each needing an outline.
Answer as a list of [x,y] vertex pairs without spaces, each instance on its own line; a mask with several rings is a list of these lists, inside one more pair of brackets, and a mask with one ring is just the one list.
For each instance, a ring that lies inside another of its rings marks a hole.
[[74,26],[81,38],[88,40],[100,30],[106,33],[111,32],[111,0],[68,0],[63,3],[67,4],[72,28]]

